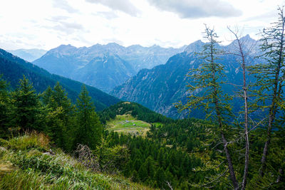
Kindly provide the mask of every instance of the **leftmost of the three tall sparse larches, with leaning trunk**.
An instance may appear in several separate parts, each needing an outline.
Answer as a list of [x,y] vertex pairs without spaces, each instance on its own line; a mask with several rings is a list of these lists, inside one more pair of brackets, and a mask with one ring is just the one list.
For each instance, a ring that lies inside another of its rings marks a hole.
[[186,105],[178,104],[178,107],[181,111],[188,110],[189,112],[202,108],[207,113],[206,118],[217,123],[216,130],[219,132],[224,147],[232,186],[234,189],[239,189],[226,137],[226,134],[231,130],[228,119],[232,117],[232,106],[229,104],[232,97],[222,91],[224,65],[217,63],[222,51],[218,48],[218,36],[214,29],[206,26],[205,38],[208,43],[204,45],[202,53],[199,53],[202,64],[199,65],[199,68],[190,70],[188,75],[194,81],[194,85],[188,85],[190,96],[187,97]]

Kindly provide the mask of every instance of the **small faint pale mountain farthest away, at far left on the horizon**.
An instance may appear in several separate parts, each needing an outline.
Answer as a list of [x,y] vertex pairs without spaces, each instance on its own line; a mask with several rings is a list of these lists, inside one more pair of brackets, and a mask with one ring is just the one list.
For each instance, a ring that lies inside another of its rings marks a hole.
[[41,58],[41,56],[43,56],[46,53],[45,50],[41,49],[18,49],[18,50],[11,50],[8,52],[24,60],[28,60],[30,62],[38,58]]

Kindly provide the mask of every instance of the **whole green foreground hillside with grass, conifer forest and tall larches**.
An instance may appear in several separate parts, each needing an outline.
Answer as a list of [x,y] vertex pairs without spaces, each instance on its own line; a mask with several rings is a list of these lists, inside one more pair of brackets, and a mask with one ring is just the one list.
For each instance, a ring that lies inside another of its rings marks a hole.
[[[0,189],[284,189],[284,9],[262,31],[262,63],[249,65],[239,32],[229,31],[239,93],[224,88],[227,54],[206,26],[186,101],[172,105],[205,120],[172,120],[133,102],[95,112],[85,85],[74,104],[60,83],[38,94],[25,76],[16,88],[0,78]],[[121,132],[145,122],[144,135]]]

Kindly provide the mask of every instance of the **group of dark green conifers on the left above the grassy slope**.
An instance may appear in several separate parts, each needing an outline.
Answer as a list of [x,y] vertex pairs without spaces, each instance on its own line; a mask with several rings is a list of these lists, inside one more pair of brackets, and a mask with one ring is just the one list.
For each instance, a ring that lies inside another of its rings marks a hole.
[[48,134],[53,144],[67,152],[76,143],[88,144],[93,149],[99,143],[103,129],[86,88],[76,110],[59,83],[53,89],[47,88],[41,96],[36,95],[25,76],[19,88],[11,93],[6,90],[4,80],[0,80],[0,87],[1,137],[37,130]]

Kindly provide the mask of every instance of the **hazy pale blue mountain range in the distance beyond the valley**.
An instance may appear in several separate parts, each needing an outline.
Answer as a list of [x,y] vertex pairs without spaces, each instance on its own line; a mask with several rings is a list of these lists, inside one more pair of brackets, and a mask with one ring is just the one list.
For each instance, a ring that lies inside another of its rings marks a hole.
[[145,48],[138,45],[125,48],[117,43],[96,44],[89,48],[61,45],[33,63],[51,73],[108,92],[116,85],[124,83],[141,68],[164,64],[170,56],[182,52],[184,48]]

